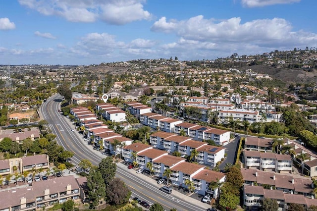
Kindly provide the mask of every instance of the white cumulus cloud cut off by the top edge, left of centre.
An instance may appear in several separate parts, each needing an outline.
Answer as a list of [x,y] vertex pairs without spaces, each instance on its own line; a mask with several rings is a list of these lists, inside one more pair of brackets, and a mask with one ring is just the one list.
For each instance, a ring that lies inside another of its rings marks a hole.
[[149,20],[143,9],[145,0],[19,0],[21,5],[44,15],[57,15],[72,22],[95,22],[123,25],[137,20]]

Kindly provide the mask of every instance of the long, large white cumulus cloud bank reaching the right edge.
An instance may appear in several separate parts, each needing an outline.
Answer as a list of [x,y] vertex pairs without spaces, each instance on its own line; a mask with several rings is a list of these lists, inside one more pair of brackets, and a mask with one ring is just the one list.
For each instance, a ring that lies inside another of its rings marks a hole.
[[[160,18],[152,31],[174,33],[185,40],[211,43],[253,43],[261,46],[285,44],[292,46],[305,43],[316,44],[317,34],[292,31],[292,25],[282,18],[257,19],[242,23],[240,17],[215,21],[199,15],[188,20],[170,22]],[[312,45],[314,46],[314,45]]]

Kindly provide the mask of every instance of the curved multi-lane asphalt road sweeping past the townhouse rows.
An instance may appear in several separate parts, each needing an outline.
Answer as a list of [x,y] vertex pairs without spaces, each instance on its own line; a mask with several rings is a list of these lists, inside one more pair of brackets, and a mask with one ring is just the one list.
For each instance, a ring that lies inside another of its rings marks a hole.
[[[97,155],[92,146],[85,144],[83,137],[78,132],[71,131],[74,125],[69,119],[62,116],[59,112],[59,105],[62,97],[58,94],[49,98],[41,106],[41,115],[49,123],[49,128],[55,134],[57,143],[65,150],[74,152],[72,161],[78,164],[82,159],[89,159],[94,165],[98,165],[100,160],[105,156]],[[176,208],[178,211],[206,211],[205,208],[199,207],[198,204],[191,204],[182,198],[166,195],[159,191],[158,187],[151,182],[141,179],[134,171],[129,171],[126,166],[117,165],[116,177],[120,178],[132,191],[133,197],[149,202],[149,204],[159,203],[166,210]]]

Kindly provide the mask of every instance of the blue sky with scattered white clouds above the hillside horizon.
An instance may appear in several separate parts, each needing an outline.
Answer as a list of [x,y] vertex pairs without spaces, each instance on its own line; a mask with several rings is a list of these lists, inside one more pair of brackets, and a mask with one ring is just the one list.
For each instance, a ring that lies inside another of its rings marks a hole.
[[1,0],[0,64],[316,48],[316,8],[317,0]]

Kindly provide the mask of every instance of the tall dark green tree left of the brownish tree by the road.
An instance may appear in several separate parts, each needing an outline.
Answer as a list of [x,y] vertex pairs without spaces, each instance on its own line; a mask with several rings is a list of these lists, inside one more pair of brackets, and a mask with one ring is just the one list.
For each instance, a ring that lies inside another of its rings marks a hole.
[[92,206],[96,208],[102,199],[106,198],[106,184],[101,172],[97,168],[90,169],[87,176],[88,198],[92,201]]

